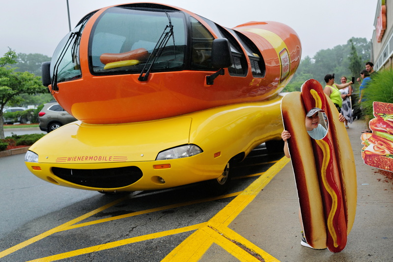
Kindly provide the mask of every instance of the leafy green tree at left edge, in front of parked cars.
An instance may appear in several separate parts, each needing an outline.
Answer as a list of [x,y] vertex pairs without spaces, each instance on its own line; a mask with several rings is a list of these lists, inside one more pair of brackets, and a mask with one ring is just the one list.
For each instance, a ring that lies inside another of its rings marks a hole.
[[21,103],[21,94],[46,93],[41,78],[29,72],[15,72],[10,64],[15,64],[16,53],[10,48],[0,58],[0,139],[4,139],[3,109],[7,103]]

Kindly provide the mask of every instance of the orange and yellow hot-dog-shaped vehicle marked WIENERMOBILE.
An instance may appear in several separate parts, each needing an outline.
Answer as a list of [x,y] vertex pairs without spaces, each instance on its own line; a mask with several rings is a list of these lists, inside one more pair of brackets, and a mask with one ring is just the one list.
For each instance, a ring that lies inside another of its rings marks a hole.
[[232,29],[175,6],[129,3],[86,15],[42,66],[43,84],[79,121],[25,157],[37,177],[103,193],[208,181],[281,139],[281,91],[301,58],[277,22]]

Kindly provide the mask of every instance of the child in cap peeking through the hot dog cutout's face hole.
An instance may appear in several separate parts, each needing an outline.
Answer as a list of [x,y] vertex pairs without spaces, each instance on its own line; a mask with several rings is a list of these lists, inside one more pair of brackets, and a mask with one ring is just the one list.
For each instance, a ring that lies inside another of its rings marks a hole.
[[[319,124],[319,112],[325,112],[324,110],[322,110],[321,108],[318,107],[314,107],[311,108],[307,114],[306,114],[306,120],[305,120],[305,125],[306,125],[306,130],[309,133],[310,137],[316,140],[320,140],[322,138],[325,137],[325,135],[327,134],[327,130],[321,125]],[[339,113],[338,114],[338,120],[340,122],[344,122],[345,121],[345,117]],[[282,140],[284,140],[284,153],[285,153],[285,157],[290,158],[291,156],[289,155],[289,149],[288,149],[288,139],[291,137],[291,134],[284,130],[281,133],[281,138]],[[299,220],[300,220],[300,224],[302,225],[302,240],[300,242],[300,244],[302,246],[306,246],[306,247],[310,247],[312,248],[306,241],[306,238],[303,235],[303,222],[302,222],[302,215],[300,212],[300,208],[299,208]]]

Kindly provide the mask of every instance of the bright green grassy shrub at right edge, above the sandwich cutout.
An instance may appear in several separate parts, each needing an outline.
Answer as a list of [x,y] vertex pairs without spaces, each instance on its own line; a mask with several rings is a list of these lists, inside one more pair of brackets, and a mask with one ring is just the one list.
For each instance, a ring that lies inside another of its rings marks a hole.
[[372,116],[372,102],[393,103],[393,69],[378,71],[364,90],[365,102],[362,106],[365,113]]

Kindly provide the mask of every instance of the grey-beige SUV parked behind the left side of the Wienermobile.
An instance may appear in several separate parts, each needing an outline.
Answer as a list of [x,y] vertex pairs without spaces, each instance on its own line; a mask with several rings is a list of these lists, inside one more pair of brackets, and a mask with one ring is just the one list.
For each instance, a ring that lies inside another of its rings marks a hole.
[[57,102],[45,104],[38,113],[38,116],[40,120],[40,130],[47,131],[48,133],[77,120]]

